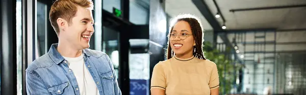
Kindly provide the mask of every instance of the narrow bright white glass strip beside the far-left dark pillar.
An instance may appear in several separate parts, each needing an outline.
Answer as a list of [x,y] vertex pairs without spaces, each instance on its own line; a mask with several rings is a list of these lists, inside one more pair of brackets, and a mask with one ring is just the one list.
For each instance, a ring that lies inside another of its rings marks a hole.
[[17,95],[22,94],[22,27],[21,27],[21,0],[16,2],[16,52],[17,52]]

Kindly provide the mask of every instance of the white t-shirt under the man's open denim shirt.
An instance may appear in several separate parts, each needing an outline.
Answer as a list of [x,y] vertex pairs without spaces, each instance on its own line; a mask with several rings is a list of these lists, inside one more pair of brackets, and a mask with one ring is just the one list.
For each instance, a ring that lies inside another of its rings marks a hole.
[[99,95],[99,90],[90,75],[83,58],[84,54],[75,58],[64,57],[68,61],[68,66],[73,72],[79,85],[79,90],[82,95]]

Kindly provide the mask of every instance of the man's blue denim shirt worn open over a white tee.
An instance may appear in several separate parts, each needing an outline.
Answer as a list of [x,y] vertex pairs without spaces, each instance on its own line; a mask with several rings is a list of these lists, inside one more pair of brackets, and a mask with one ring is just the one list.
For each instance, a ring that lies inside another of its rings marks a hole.
[[[33,61],[25,70],[27,93],[34,94],[80,94],[77,79],[69,72],[67,60],[52,44],[47,54]],[[113,64],[103,52],[84,49],[84,62],[100,95],[121,95]]]

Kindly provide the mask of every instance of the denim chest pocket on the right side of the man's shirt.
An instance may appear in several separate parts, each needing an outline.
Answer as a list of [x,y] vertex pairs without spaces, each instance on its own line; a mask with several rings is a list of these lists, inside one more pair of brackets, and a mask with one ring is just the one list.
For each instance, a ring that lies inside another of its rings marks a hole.
[[114,94],[114,76],[112,73],[112,70],[109,70],[105,73],[99,73],[99,76],[101,78],[101,83],[103,85],[103,91],[107,93],[108,95]]

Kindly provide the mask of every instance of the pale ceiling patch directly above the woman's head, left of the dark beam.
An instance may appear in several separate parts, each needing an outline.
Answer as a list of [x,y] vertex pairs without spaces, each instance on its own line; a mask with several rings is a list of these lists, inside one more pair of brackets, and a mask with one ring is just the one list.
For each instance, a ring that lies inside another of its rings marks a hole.
[[166,0],[165,2],[165,11],[170,16],[175,17],[179,14],[189,13],[201,19],[203,30],[213,30],[211,25],[191,0]]

